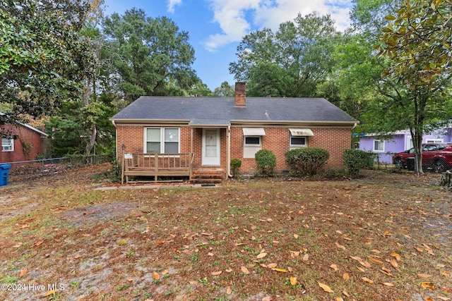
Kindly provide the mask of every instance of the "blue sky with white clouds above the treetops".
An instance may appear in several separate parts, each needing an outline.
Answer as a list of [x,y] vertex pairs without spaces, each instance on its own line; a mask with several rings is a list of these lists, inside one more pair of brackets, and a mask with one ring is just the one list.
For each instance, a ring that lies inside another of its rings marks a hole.
[[167,16],[189,32],[195,49],[194,70],[210,90],[227,81],[234,85],[229,63],[236,61],[242,37],[263,27],[277,30],[298,13],[331,14],[338,30],[349,24],[351,0],[105,0],[105,14],[141,8],[151,18]]

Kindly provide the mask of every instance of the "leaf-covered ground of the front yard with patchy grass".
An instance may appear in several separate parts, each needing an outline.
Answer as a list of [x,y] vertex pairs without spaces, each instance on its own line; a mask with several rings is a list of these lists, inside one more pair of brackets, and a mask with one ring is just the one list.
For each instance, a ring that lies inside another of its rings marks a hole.
[[108,168],[0,187],[1,300],[452,300],[436,173],[119,189]]

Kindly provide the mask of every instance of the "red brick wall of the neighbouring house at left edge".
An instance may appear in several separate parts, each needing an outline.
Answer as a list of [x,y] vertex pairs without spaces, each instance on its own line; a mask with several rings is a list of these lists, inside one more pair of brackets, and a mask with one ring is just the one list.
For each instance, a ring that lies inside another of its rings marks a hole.
[[[18,135],[18,139],[14,140],[13,152],[0,152],[0,163],[35,160],[36,156],[41,154],[42,139],[40,133],[23,125],[4,125],[1,127],[1,131],[9,130]],[[23,151],[25,142],[32,145],[28,153]]]

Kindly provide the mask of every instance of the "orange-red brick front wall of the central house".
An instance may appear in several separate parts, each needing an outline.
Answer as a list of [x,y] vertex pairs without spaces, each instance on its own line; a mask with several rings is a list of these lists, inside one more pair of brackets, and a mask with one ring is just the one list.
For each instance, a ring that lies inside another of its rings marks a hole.
[[[125,152],[142,153],[144,146],[144,126],[143,125],[117,125],[117,154],[121,159],[121,145],[126,146]],[[182,153],[191,152],[191,131],[193,130],[193,152],[194,168],[202,166],[202,128],[180,127]],[[309,147],[320,147],[326,149],[330,154],[330,159],[326,168],[341,169],[343,149],[350,148],[351,130],[350,128],[312,128],[314,136],[307,137]],[[220,129],[221,144],[221,168],[227,168],[227,136],[226,128]],[[287,171],[285,164],[285,152],[290,149],[290,131],[288,128],[265,128],[266,135],[262,137],[262,148],[269,149],[276,155],[275,171]],[[256,171],[256,160],[254,158],[243,158],[244,136],[242,127],[231,128],[231,155],[230,159],[241,159],[241,173],[254,173]]]

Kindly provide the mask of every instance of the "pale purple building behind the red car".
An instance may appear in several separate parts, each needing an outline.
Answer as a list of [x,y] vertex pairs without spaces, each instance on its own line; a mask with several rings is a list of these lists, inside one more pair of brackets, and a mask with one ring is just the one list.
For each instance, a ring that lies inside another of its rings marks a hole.
[[[400,130],[381,137],[378,134],[367,134],[359,139],[359,149],[377,155],[380,163],[392,163],[392,156],[412,147],[410,130]],[[452,142],[452,128],[441,128],[429,134],[424,134],[422,143]]]

